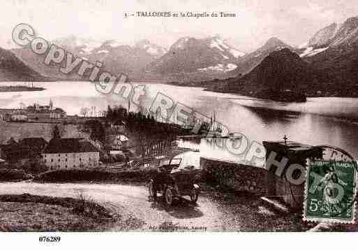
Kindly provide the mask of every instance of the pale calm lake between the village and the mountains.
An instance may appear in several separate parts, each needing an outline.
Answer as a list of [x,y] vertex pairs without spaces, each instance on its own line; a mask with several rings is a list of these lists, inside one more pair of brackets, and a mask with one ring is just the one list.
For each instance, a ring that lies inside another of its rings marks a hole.
[[[34,85],[45,90],[0,93],[0,108],[20,107],[20,103],[26,106],[33,102],[47,104],[52,99],[54,106],[64,108],[69,115],[79,115],[82,107],[95,106],[99,111],[106,110],[108,104],[128,106],[128,102],[118,96],[99,94],[94,85],[87,82]],[[162,92],[207,117],[215,113],[216,120],[225,124],[230,132],[244,134],[251,141],[279,141],[286,135],[291,141],[310,145],[334,145],[358,158],[358,99],[327,97],[308,98],[306,103],[280,103],[235,94],[205,92],[198,87],[154,83],[146,86],[149,98],[153,99],[158,92]],[[205,139],[180,144],[200,149],[200,155],[204,157],[237,160]]]

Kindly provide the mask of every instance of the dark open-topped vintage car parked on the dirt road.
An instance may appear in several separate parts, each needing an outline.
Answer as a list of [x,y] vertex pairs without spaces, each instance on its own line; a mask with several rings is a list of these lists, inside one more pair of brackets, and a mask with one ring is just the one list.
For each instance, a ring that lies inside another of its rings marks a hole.
[[152,199],[156,200],[157,194],[161,193],[168,206],[181,196],[190,196],[191,201],[196,203],[200,187],[195,180],[200,174],[200,166],[188,158],[191,157],[175,157],[158,165],[158,173],[149,180],[149,196]]

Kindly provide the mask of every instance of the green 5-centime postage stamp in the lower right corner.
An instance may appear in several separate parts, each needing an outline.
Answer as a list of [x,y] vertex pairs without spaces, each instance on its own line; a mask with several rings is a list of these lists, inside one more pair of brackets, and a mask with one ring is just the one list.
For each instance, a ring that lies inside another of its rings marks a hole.
[[357,162],[310,162],[304,220],[354,223],[356,173]]

